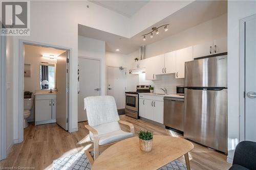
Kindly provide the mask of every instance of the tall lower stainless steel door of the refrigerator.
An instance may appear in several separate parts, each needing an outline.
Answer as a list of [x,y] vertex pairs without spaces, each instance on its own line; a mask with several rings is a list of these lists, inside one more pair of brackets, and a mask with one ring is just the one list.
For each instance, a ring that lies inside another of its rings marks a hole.
[[184,137],[227,153],[227,89],[185,89]]

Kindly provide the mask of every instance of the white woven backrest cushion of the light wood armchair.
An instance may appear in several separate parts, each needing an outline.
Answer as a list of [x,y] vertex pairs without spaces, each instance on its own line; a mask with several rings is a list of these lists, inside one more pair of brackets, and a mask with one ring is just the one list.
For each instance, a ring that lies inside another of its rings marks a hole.
[[119,121],[113,96],[101,95],[84,98],[84,109],[87,112],[88,123],[92,127]]

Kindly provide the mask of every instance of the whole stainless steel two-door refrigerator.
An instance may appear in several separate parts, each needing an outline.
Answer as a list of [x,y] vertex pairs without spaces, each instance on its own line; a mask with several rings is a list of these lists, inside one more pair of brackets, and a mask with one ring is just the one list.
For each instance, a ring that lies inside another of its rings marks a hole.
[[227,56],[185,63],[184,137],[227,153]]

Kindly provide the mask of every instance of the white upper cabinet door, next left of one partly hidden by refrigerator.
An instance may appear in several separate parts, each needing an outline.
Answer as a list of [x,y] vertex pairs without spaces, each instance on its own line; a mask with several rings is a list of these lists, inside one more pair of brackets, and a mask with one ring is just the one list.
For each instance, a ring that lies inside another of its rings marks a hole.
[[176,71],[176,51],[164,54],[164,74],[174,73]]

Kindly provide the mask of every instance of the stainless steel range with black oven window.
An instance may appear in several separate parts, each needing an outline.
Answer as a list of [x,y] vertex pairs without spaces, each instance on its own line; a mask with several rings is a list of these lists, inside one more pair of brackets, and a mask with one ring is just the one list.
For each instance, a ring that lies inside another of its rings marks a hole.
[[139,93],[150,92],[151,85],[137,85],[136,91],[125,92],[125,114],[127,116],[139,118]]

